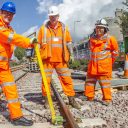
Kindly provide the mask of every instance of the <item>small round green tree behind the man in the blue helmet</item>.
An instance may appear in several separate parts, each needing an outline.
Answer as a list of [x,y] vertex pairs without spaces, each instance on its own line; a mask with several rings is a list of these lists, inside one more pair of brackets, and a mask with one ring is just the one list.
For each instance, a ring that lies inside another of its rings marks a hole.
[[17,47],[14,55],[17,57],[18,60],[22,60],[22,58],[25,56],[25,49]]

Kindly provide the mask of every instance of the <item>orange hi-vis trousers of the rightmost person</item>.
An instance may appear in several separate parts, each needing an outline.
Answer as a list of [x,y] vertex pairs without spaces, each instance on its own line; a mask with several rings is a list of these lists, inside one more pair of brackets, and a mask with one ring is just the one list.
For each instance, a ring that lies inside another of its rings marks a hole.
[[104,76],[87,75],[87,79],[85,82],[85,96],[87,96],[88,98],[94,98],[95,85],[97,81],[99,82],[103,93],[102,100],[112,100],[110,75],[104,75]]

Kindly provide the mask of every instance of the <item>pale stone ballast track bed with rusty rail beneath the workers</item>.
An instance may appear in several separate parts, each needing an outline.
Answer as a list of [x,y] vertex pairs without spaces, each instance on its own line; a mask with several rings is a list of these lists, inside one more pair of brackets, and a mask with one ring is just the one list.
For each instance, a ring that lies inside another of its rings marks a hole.
[[[26,74],[25,74],[26,73]],[[101,92],[96,92],[93,102],[86,100],[83,92],[76,93],[76,100],[81,104],[81,110],[72,108],[64,95],[59,80],[54,73],[52,88],[53,102],[57,115],[63,115],[64,123],[61,126],[50,124],[51,115],[45,108],[41,94],[41,76],[39,73],[13,72],[19,90],[19,99],[22,103],[24,115],[34,121],[32,128],[127,128],[128,127],[128,91],[113,92],[113,102],[110,106],[102,104]],[[22,75],[21,78],[19,76]],[[24,75],[23,75],[24,74]],[[76,77],[76,76],[75,76]],[[82,76],[83,77],[83,76]],[[75,85],[84,83],[84,79],[73,79]],[[59,91],[59,93],[58,93]],[[58,101],[58,102],[57,102]],[[5,106],[6,102],[3,102]],[[0,115],[0,127],[15,128],[8,123],[8,112],[4,107]],[[8,127],[9,126],[9,127]],[[18,127],[20,128],[20,127]],[[30,127],[31,128],[31,127]]]

